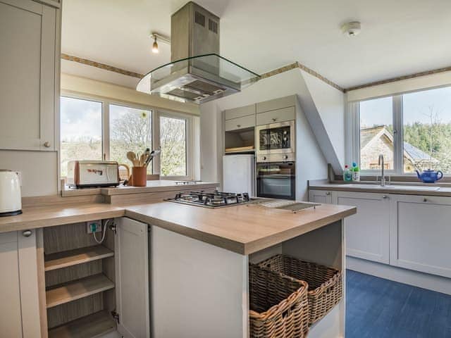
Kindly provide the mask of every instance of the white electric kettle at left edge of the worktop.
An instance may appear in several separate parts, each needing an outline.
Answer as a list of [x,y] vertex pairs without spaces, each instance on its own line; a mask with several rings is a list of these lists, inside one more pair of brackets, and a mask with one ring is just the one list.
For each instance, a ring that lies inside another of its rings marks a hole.
[[19,175],[13,170],[0,169],[0,217],[22,213]]

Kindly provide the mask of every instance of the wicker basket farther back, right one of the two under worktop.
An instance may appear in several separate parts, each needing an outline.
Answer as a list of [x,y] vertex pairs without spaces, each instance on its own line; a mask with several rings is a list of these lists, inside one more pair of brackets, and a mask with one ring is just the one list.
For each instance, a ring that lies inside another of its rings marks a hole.
[[323,318],[342,298],[342,275],[337,269],[285,255],[268,258],[259,266],[309,284],[309,325]]

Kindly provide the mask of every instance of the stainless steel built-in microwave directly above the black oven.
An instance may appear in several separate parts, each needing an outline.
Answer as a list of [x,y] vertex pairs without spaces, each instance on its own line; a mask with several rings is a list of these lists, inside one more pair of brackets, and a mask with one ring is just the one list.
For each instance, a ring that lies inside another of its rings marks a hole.
[[295,134],[295,120],[257,126],[257,162],[295,161]]

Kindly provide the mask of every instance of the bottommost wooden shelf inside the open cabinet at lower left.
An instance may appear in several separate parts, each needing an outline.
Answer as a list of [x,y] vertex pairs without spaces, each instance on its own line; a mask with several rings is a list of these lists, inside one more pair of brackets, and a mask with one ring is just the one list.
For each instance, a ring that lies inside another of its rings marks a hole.
[[95,338],[116,330],[113,317],[99,311],[49,330],[49,338]]

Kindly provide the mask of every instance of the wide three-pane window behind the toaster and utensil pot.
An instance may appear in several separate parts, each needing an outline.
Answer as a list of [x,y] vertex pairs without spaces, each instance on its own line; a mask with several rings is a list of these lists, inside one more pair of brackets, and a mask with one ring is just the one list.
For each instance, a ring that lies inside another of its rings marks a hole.
[[[194,122],[193,122],[194,121]],[[193,179],[190,154],[196,119],[182,113],[78,95],[61,96],[61,177],[68,161],[111,160],[131,167],[128,151],[159,149],[147,173],[166,179]]]

